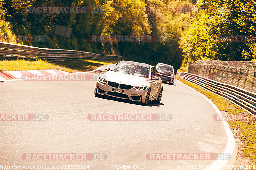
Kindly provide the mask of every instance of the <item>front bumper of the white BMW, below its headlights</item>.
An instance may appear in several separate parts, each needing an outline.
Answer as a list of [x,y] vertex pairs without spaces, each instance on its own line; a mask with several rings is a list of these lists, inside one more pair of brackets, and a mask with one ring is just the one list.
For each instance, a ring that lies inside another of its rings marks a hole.
[[[118,84],[118,87],[112,87],[108,83],[105,83],[105,84],[100,83],[97,80],[94,93],[97,92],[100,95],[107,95],[107,96],[116,97],[116,98],[120,98],[120,99],[129,99],[129,100],[137,101],[137,102],[145,102],[149,87],[146,87],[145,90],[135,90],[133,88],[122,89],[119,87],[120,87],[120,84]],[[114,91],[112,91],[113,88],[122,89],[122,90],[124,90],[124,93],[114,92]]]

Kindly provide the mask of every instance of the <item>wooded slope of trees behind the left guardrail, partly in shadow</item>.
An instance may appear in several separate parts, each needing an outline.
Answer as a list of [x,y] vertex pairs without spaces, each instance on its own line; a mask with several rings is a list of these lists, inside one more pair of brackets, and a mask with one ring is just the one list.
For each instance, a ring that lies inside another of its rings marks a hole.
[[[146,8],[190,6],[192,3],[181,0],[4,0],[0,10],[4,11],[3,16],[10,22],[12,32],[16,35],[44,35],[47,38],[46,42],[23,42],[25,45],[62,48],[63,37],[50,34],[51,25],[57,24],[73,28],[71,38],[64,40],[64,49],[122,55],[133,61],[153,65],[162,62],[178,69],[183,60],[178,41],[190,23],[190,13],[147,13]],[[28,6],[97,6],[104,9],[103,13],[86,14],[22,12],[22,8]],[[152,35],[162,41],[89,42],[89,35]]]

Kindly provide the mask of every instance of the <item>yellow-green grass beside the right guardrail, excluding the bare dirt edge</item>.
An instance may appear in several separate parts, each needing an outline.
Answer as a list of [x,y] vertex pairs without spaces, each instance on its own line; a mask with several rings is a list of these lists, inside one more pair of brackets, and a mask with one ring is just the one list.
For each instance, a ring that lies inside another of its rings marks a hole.
[[[180,79],[176,76],[177,80],[180,80],[182,83],[192,87],[196,91],[204,94],[219,108],[219,110],[224,114],[233,114],[244,116],[248,118],[255,117],[250,115],[245,110],[231,103],[230,101],[212,93],[203,88],[190,83],[184,79]],[[245,121],[245,120],[232,120],[227,121],[230,128],[237,131],[238,138],[240,138],[245,143],[244,154],[248,156],[254,163],[256,163],[256,122],[255,121]]]

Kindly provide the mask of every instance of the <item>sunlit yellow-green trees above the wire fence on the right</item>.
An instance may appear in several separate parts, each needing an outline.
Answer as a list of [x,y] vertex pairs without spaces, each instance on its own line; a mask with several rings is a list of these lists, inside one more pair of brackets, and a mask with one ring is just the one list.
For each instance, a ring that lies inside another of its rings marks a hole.
[[199,10],[192,17],[189,29],[182,33],[179,44],[184,60],[251,61],[256,59],[254,42],[219,42],[217,35],[255,35],[256,4],[253,0],[199,0],[198,9],[213,7],[213,11]]

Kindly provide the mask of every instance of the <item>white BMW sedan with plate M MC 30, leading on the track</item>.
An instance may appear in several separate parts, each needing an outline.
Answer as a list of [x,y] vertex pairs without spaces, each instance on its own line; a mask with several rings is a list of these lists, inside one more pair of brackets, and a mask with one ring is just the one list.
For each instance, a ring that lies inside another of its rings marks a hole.
[[94,94],[132,101],[145,105],[152,100],[160,103],[163,92],[162,80],[156,68],[152,65],[133,61],[120,61],[106,73],[99,76]]

